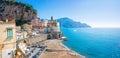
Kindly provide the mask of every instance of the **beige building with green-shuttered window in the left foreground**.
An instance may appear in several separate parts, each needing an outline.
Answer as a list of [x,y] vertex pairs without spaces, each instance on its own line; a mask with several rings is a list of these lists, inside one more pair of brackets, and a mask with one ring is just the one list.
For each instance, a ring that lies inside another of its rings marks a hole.
[[15,20],[0,20],[0,58],[13,58],[16,49]]

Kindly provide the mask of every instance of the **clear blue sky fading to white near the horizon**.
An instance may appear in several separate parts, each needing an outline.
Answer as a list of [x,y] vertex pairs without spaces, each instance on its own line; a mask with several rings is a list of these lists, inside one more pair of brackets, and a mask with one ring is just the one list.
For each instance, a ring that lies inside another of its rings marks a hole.
[[17,0],[32,5],[38,17],[68,17],[92,27],[120,28],[120,0]]

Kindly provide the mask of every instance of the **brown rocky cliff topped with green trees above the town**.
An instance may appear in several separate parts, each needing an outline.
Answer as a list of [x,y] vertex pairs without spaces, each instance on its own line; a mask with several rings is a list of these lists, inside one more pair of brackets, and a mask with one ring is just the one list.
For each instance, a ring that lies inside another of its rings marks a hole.
[[0,20],[16,19],[16,24],[21,25],[35,18],[37,12],[32,6],[16,0],[0,0]]

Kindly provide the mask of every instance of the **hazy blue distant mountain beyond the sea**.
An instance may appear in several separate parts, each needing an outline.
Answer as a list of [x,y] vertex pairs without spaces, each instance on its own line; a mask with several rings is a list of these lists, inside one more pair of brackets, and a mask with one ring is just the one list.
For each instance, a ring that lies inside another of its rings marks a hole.
[[58,22],[60,22],[60,26],[64,28],[90,28],[91,27],[85,23],[76,22],[67,17],[59,18],[57,20]]

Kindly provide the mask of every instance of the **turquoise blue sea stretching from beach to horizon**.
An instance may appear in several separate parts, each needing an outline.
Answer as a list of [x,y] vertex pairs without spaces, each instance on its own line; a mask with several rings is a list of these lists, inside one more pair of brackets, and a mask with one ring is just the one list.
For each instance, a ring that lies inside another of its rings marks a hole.
[[120,58],[120,28],[62,28],[70,49],[87,58]]

